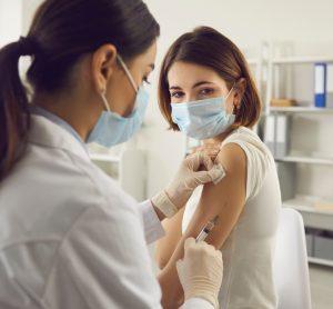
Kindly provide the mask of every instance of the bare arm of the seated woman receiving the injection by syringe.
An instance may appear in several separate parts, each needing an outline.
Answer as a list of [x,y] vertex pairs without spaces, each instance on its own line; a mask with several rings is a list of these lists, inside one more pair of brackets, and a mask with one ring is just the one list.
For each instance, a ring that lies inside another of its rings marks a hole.
[[239,144],[228,143],[221,149],[216,161],[223,166],[226,176],[216,185],[204,186],[186,231],[167,267],[160,273],[159,279],[163,290],[162,302],[168,302],[167,298],[179,299],[182,296],[175,262],[183,257],[184,240],[189,237],[195,238],[208,221],[219,216],[216,226],[205,241],[220,249],[242,212],[246,191],[246,156]]

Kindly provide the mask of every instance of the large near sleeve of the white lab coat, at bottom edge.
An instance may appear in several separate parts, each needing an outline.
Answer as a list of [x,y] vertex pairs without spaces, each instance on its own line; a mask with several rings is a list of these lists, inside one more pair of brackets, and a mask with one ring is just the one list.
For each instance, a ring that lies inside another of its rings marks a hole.
[[161,308],[134,208],[92,207],[80,216],[59,249],[48,283],[51,308]]

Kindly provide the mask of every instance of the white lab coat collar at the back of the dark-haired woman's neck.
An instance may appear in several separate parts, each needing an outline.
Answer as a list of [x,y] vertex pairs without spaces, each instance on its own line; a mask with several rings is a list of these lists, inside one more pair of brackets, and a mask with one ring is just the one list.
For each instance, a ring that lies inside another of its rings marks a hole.
[[63,149],[90,161],[87,150],[70,132],[42,116],[31,114],[28,141],[43,147]]

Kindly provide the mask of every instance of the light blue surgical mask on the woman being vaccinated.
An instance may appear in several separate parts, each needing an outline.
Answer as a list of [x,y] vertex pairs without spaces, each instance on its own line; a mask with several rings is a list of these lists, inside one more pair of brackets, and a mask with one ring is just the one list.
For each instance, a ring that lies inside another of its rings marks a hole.
[[172,103],[172,121],[188,137],[202,140],[225,132],[234,123],[235,116],[226,113],[226,97],[210,98],[199,101]]

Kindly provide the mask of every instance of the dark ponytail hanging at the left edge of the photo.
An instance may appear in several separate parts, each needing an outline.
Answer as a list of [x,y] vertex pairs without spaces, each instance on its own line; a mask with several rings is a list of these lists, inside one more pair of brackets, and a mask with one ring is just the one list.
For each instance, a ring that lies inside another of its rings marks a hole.
[[0,50],[0,181],[20,158],[29,129],[28,98],[19,76],[23,40]]

